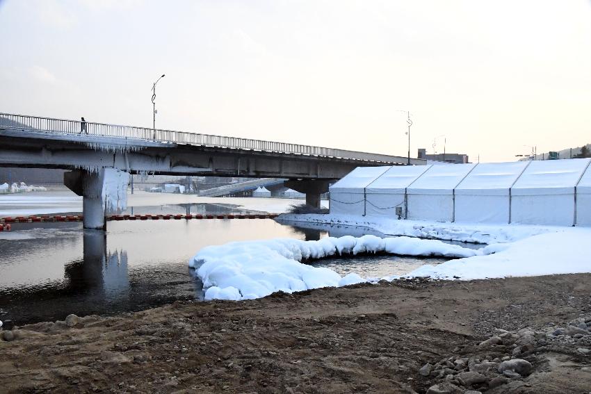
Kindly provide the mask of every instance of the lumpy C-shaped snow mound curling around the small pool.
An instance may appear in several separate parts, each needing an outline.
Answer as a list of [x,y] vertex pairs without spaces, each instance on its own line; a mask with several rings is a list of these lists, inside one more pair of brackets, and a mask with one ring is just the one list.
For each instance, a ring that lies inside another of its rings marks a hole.
[[387,252],[408,256],[476,256],[480,252],[439,240],[376,236],[343,236],[317,241],[276,239],[209,246],[189,261],[203,281],[205,299],[254,299],[275,291],[292,293],[327,286],[346,286],[366,281],[358,274],[342,277],[327,268],[302,264],[302,259],[335,254]]

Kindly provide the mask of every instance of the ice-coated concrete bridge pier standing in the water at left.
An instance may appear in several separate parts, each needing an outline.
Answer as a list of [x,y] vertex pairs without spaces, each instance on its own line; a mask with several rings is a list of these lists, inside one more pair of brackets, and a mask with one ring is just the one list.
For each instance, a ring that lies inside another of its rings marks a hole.
[[129,174],[113,167],[64,173],[64,184],[82,196],[84,229],[106,229],[105,214],[127,208]]

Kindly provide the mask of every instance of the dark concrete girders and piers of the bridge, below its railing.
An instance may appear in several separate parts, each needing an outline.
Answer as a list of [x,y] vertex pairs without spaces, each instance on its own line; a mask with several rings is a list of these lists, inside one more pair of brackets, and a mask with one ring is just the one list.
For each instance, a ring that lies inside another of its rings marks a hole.
[[[0,127],[0,165],[71,170],[65,174],[65,184],[84,197],[85,228],[104,227],[105,208],[108,208],[104,201],[107,182],[102,175],[104,169],[126,174],[286,178],[289,179],[287,187],[305,193],[307,204],[318,207],[320,195],[328,191],[329,183],[344,177],[355,167],[392,164],[401,163],[127,138],[56,135]],[[111,195],[127,199],[127,185],[125,188],[111,190]]]

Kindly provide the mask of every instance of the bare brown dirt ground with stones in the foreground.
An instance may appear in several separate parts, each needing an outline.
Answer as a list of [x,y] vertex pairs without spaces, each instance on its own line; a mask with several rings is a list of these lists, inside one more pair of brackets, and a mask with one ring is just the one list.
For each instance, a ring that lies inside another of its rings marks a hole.
[[0,392],[588,394],[590,295],[591,274],[418,279],[44,322],[3,333]]

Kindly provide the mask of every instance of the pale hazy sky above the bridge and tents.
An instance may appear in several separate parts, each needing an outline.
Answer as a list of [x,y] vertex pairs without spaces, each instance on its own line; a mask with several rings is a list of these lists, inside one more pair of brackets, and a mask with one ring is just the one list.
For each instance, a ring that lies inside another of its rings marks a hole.
[[0,112],[406,156],[591,142],[591,1],[0,0]]

